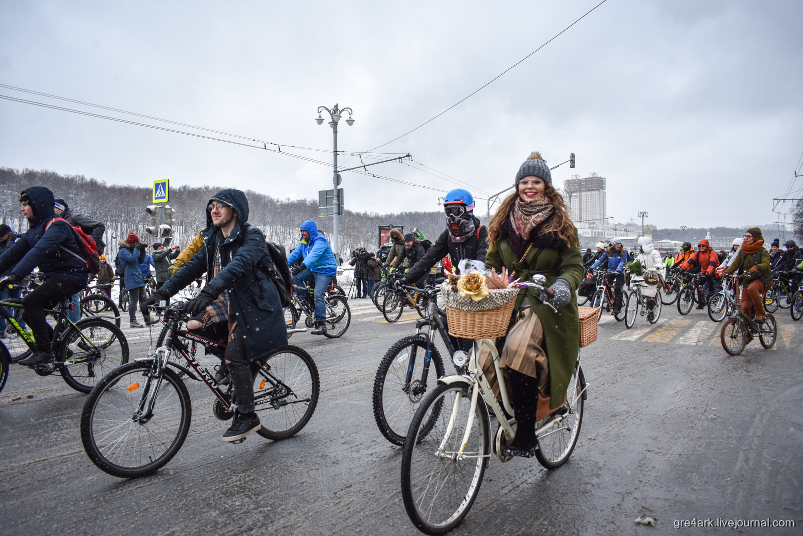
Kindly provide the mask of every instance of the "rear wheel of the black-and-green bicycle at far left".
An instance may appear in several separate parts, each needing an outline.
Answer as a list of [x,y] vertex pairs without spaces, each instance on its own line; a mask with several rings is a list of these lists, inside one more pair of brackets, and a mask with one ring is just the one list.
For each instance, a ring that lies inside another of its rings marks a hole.
[[67,385],[88,393],[106,374],[128,362],[128,340],[112,322],[85,318],[64,336],[58,361],[63,362],[61,376]]

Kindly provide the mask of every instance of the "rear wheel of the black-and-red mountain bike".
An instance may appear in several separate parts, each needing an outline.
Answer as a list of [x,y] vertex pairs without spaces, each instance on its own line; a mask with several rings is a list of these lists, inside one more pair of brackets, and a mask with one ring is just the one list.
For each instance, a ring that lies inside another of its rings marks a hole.
[[270,440],[295,436],[309,422],[320,394],[318,367],[298,346],[283,346],[254,371],[254,402]]

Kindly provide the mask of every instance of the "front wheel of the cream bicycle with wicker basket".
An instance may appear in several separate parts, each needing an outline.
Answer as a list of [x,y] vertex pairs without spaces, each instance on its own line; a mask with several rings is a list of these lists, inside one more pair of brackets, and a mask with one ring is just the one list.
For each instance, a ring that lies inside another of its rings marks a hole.
[[[491,457],[487,407],[480,397],[470,421],[470,390],[463,382],[439,385],[407,431],[402,499],[410,521],[425,534],[444,534],[463,521]],[[427,423],[434,426],[428,430]]]

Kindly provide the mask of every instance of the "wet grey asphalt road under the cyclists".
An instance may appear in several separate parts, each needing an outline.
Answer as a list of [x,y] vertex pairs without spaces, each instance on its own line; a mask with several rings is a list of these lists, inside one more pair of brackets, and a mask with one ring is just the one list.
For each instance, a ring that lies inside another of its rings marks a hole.
[[[84,453],[86,395],[59,375],[13,366],[0,393],[0,534],[421,534],[402,504],[402,449],[378,432],[371,405],[382,355],[418,316],[388,324],[369,301],[351,305],[344,337],[291,338],[312,354],[321,383],[297,436],[225,444],[210,391],[188,382],[193,419],[181,451],[130,481]],[[450,534],[731,534],[675,530],[693,518],[794,520],[797,528],[738,531],[800,534],[803,322],[786,309],[776,317],[776,346],[752,342],[737,357],[704,311],[681,317],[665,306],[657,325],[633,329],[603,317],[582,353],[589,396],[571,459],[547,471],[534,458],[492,457]],[[124,331],[131,358],[148,353],[147,330]],[[634,523],[644,516],[656,526]]]

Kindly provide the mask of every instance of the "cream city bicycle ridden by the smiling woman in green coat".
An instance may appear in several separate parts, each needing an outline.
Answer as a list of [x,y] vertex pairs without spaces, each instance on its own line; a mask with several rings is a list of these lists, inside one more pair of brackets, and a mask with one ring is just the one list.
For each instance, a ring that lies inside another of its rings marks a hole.
[[[540,288],[543,293],[543,285]],[[479,493],[491,449],[499,460],[512,460],[507,445],[516,436],[516,418],[499,369],[499,353],[491,339],[475,340],[472,346],[469,354],[454,352],[458,374],[438,379],[438,386],[415,412],[404,441],[402,500],[410,521],[425,534],[444,534],[463,521]],[[478,364],[480,346],[491,351],[501,404]],[[536,458],[548,469],[569,460],[580,434],[587,396],[580,358],[578,351],[565,402],[536,423]],[[488,407],[499,421],[495,436]]]

